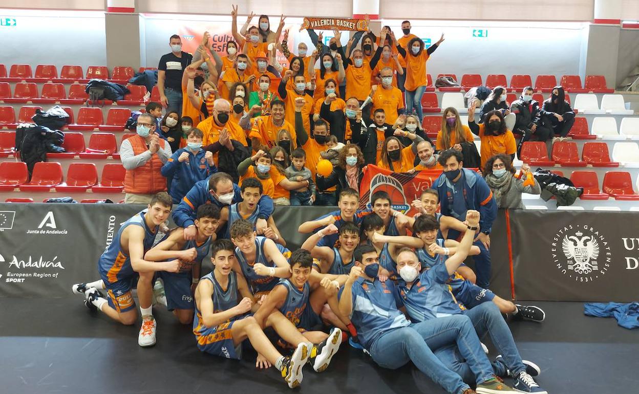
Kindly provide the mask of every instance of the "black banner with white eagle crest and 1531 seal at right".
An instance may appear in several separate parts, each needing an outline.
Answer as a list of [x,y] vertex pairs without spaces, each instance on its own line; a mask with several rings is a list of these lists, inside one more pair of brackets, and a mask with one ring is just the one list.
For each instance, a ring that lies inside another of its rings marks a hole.
[[518,299],[639,299],[636,213],[521,210],[510,215]]

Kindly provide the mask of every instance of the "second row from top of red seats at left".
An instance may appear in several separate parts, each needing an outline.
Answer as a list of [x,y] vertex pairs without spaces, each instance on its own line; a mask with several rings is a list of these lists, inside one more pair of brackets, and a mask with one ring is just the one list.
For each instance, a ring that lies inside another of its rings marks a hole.
[[[130,91],[119,100],[119,105],[142,105],[146,96],[146,86],[127,85]],[[42,95],[38,95],[38,86],[34,82],[19,82],[15,84],[13,95],[8,82],[0,82],[0,102],[5,103],[61,103],[83,104],[89,98],[86,93],[86,84],[73,84],[69,87],[69,96],[63,84],[46,83],[42,85]],[[105,100],[105,104],[111,104],[111,100]]]

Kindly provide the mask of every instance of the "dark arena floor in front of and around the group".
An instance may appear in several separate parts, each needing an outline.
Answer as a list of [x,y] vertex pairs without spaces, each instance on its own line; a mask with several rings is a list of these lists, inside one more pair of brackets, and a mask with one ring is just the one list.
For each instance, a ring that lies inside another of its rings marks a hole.
[[[546,321],[512,322],[521,356],[535,361],[548,393],[636,393],[639,331],[614,319],[583,315],[582,303],[539,302]],[[289,393],[275,368],[199,352],[187,326],[157,308],[157,345],[137,345],[137,324],[121,326],[91,314],[82,297],[0,299],[0,393]],[[489,339],[489,356],[497,353]],[[221,390],[221,391],[219,391]],[[297,391],[297,390],[296,390]],[[444,393],[412,365],[376,367],[345,345],[326,372],[308,367],[302,393]]]

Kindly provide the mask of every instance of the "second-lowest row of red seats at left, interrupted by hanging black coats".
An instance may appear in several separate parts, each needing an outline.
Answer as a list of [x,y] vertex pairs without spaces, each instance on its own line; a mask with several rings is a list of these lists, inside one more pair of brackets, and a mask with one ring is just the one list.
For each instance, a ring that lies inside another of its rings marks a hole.
[[[62,148],[64,153],[47,153],[47,158],[86,158],[106,159],[112,157],[119,160],[118,146],[131,137],[132,133],[122,135],[119,145],[113,133],[92,133],[89,146],[84,144],[82,133],[65,133]],[[0,132],[0,157],[8,157],[15,153],[15,132]]]

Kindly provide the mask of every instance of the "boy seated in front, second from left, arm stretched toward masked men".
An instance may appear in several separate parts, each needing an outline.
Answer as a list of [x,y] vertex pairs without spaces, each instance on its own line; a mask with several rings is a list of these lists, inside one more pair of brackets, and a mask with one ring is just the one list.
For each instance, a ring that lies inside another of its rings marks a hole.
[[[323,331],[312,330],[319,323],[318,314],[327,301],[324,287],[339,287],[339,280],[346,281],[342,275],[319,275],[312,271],[313,259],[308,250],[298,249],[291,254],[291,276],[281,279],[262,302],[255,319],[265,321],[273,311],[279,310],[289,321],[302,331],[312,344],[315,344],[309,355],[309,363],[316,372],[322,372],[328,367],[342,342],[342,330],[335,327],[326,334]],[[339,280],[338,280],[339,279]],[[336,283],[333,283],[335,281]],[[337,305],[337,304],[335,304]]]

